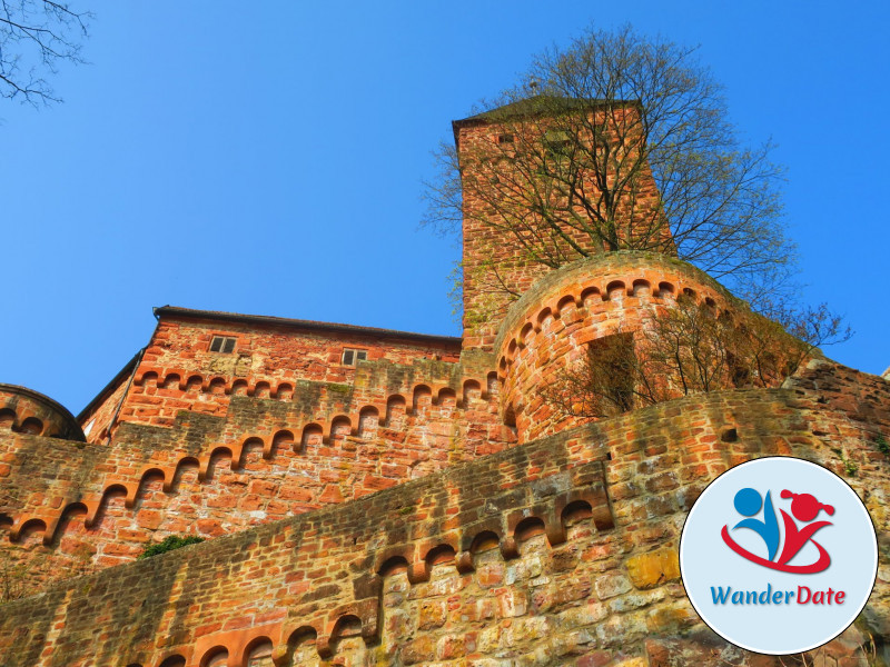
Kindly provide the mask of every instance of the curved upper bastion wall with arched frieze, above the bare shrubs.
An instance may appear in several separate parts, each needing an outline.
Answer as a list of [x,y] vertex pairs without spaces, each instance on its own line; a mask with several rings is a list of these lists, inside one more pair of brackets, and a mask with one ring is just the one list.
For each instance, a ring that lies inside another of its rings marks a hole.
[[507,311],[494,345],[502,415],[518,441],[578,426],[547,415],[542,390],[594,340],[633,334],[659,308],[683,297],[720,312],[736,302],[700,269],[652,252],[585,258],[535,282]]

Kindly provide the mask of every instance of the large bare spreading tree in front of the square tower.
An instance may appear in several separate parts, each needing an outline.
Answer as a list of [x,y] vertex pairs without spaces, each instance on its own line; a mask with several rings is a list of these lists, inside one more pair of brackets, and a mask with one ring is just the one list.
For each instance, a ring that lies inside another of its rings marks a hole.
[[534,58],[483,108],[474,118],[498,140],[459,160],[443,146],[427,183],[425,222],[437,229],[491,227],[523,261],[551,268],[609,250],[664,252],[731,289],[793,262],[771,145],[741,145],[695,49],[631,27],[589,30]]

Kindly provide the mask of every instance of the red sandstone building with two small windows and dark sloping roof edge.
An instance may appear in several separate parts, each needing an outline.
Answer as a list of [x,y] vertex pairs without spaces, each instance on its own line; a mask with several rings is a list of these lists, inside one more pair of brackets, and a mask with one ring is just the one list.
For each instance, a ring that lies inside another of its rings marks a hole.
[[[158,315],[132,382],[121,378],[113,392],[81,415],[90,441],[109,436],[112,416],[118,422],[170,426],[180,410],[225,416],[231,396],[287,401],[301,381],[353,385],[357,365],[342,364],[345,349],[396,366],[454,365],[461,356],[459,339],[442,336],[170,307]],[[234,350],[211,351],[216,336],[235,339]]]

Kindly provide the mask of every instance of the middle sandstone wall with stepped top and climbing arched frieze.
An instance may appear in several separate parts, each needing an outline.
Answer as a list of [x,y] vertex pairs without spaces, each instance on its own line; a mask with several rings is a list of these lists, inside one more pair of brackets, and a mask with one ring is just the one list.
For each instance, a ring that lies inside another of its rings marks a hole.
[[[515,435],[479,368],[363,362],[348,385],[225,395],[220,415],[121,418],[108,444],[11,432],[0,437],[0,559],[18,593],[36,591],[130,561],[168,535],[231,534],[498,451]],[[170,400],[205,396],[176,391]]]

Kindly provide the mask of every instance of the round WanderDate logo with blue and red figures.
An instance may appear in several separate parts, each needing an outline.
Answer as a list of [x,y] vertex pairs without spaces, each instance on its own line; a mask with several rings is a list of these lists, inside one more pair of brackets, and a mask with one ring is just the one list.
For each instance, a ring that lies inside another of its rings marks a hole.
[[692,606],[746,650],[785,655],[840,635],[866,606],[878,540],[833,472],[790,457],[736,466],[693,505],[680,539]]

